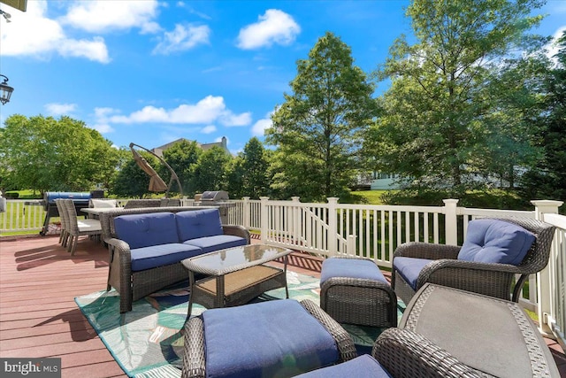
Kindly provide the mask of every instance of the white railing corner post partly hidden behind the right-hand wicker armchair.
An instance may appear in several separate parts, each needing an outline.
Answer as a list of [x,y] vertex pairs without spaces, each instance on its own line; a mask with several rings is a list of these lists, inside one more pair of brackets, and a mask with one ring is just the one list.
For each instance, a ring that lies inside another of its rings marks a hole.
[[[564,204],[562,201],[534,200],[535,219],[544,221],[544,214],[557,214],[558,208]],[[552,280],[550,266],[547,265],[537,273],[537,314],[539,315],[539,331],[543,335],[551,335],[552,331],[547,325],[546,313],[552,312],[552,293],[550,280]]]

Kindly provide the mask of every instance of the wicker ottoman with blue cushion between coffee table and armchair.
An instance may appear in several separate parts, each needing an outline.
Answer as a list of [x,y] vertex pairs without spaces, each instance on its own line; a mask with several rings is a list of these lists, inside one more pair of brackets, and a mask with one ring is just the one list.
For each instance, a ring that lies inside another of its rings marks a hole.
[[369,258],[325,259],[320,306],[339,323],[397,327],[397,296]]

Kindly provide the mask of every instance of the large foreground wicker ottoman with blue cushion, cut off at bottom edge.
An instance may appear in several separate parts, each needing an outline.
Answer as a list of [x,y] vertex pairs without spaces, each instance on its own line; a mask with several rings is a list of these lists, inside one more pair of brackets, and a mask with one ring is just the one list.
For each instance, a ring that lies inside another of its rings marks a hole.
[[185,326],[182,378],[286,378],[356,358],[348,332],[309,299],[216,308]]

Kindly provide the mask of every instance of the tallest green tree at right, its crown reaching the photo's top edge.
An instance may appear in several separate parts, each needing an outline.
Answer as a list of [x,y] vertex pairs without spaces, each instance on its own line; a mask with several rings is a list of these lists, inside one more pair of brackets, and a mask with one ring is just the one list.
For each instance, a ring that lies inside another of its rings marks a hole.
[[[497,94],[492,85],[505,58],[544,42],[526,34],[539,23],[541,17],[531,14],[542,4],[411,2],[407,15],[417,43],[400,37],[377,72],[379,79],[391,80],[381,98],[385,114],[369,141],[379,147],[381,170],[410,177],[413,188],[448,187],[458,195],[473,188],[478,175],[493,174],[498,158],[518,150],[516,141],[529,140],[524,122],[517,120],[524,115],[499,106],[497,96],[507,95]],[[509,161],[519,163],[519,156]]]

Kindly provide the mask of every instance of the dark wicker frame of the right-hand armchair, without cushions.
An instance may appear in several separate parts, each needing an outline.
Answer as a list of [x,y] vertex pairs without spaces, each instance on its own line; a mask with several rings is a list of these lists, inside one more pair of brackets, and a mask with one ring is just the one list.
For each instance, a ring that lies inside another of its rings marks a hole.
[[[392,286],[395,293],[408,304],[415,292],[424,283],[432,282],[455,289],[518,301],[524,282],[530,274],[534,274],[547,266],[550,245],[555,235],[555,227],[539,220],[528,218],[500,218],[531,231],[535,241],[523,261],[518,265],[470,262],[458,259],[462,246],[434,243],[403,243],[394,252],[398,257],[422,258],[432,260],[420,270],[415,287],[406,282],[402,274],[395,268]],[[516,280],[515,287],[513,281]]]

